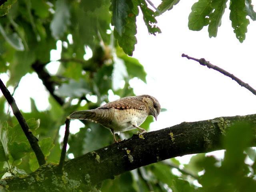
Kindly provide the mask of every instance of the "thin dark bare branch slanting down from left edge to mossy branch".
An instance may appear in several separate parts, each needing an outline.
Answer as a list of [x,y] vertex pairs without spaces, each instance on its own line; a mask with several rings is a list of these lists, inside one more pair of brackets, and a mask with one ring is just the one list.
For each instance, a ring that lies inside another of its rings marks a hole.
[[18,109],[18,106],[16,105],[14,98],[12,97],[12,95],[10,94],[10,92],[8,91],[8,89],[6,88],[6,86],[4,85],[4,83],[2,82],[1,79],[0,79],[0,89],[1,89],[4,97],[6,98],[6,100],[10,104],[10,106],[12,107],[13,114],[16,116],[24,134],[26,135],[26,137],[28,139],[28,142],[30,143],[31,148],[34,150],[34,152],[36,154],[36,158],[38,160],[38,164],[40,166],[45,164],[46,161],[44,158],[44,154],[38,145],[38,139],[32,134],[32,132],[30,132],[25,118],[22,116],[20,110]]

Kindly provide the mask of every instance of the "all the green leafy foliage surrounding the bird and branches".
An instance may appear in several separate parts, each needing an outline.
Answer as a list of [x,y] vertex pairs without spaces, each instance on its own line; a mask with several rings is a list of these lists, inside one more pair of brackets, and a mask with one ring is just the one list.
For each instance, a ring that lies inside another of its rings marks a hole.
[[[156,35],[161,32],[157,16],[179,2],[162,0],[151,9],[146,0],[0,0],[0,73],[8,74],[8,88],[15,91],[22,77],[36,72],[50,93],[47,110],[38,110],[31,98],[31,112],[23,112],[47,162],[59,161],[59,130],[66,116],[109,102],[110,94],[134,95],[129,84],[133,78],[146,82],[142,64],[130,57],[137,43],[136,17],[141,12],[148,33]],[[208,26],[209,37],[216,37],[227,2],[198,0],[191,8],[188,28],[201,30]],[[236,38],[243,42],[248,16],[256,20],[252,2],[230,0],[229,9]],[[57,43],[61,44],[60,56],[52,61],[50,52],[56,50]],[[54,74],[47,70],[52,65],[59,65]],[[31,87],[31,91],[35,90]],[[0,113],[5,114],[0,116],[0,176],[34,172],[39,167],[36,156],[17,120],[10,115],[4,97],[0,98]],[[142,127],[148,129],[152,121],[149,117]],[[70,135],[67,159],[112,143],[108,130],[83,123],[84,127]],[[121,136],[128,138],[131,134]],[[224,140],[227,150],[223,161],[197,154],[183,165],[173,158],[106,180],[101,190],[253,191],[256,152],[246,148],[250,135],[246,124],[234,127]],[[245,163],[248,158],[252,163]]]

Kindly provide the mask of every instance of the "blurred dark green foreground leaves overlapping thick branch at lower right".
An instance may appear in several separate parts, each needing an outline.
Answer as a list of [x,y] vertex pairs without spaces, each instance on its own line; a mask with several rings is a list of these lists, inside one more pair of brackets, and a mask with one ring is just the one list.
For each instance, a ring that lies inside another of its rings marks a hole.
[[244,154],[254,138],[252,127],[246,122],[238,122],[230,127],[223,138],[226,152],[221,162],[213,156],[197,162],[205,170],[199,179],[202,191],[254,191],[256,182],[250,176],[250,165],[245,164]]

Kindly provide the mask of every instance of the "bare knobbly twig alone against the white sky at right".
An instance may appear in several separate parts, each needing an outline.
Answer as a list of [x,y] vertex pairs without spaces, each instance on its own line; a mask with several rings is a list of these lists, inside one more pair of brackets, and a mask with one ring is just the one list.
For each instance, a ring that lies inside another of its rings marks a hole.
[[211,64],[210,62],[206,61],[204,58],[196,59],[196,58],[190,57],[190,56],[185,55],[185,54],[182,54],[182,57],[186,57],[188,59],[192,59],[194,61],[197,61],[197,62],[199,62],[203,66],[207,66],[210,69],[214,69],[214,70],[216,70],[216,71],[218,71],[218,72],[220,72],[220,73],[222,73],[222,74],[232,78],[232,80],[236,81],[240,86],[248,89],[250,92],[252,92],[252,94],[256,95],[256,90],[254,88],[252,88],[249,84],[243,82],[242,80],[240,80],[239,78],[237,78],[233,74],[227,72],[226,70],[224,70],[222,68],[219,68],[216,65]]

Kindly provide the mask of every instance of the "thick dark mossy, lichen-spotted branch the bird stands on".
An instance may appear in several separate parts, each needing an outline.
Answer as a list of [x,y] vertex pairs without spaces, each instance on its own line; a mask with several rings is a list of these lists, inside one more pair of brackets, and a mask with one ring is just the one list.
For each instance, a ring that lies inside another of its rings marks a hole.
[[[128,140],[66,161],[63,175],[55,173],[57,166],[45,165],[28,176],[2,180],[1,185],[10,191],[91,190],[103,180],[160,160],[223,149],[222,137],[236,122],[248,122],[256,133],[256,114],[183,122],[146,133],[143,138],[134,135]],[[251,146],[255,143],[256,138]]]

